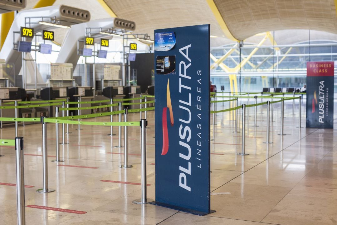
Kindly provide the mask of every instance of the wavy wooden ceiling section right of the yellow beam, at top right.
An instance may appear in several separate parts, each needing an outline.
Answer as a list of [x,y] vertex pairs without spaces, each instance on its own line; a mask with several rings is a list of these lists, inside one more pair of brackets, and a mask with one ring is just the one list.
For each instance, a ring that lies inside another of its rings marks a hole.
[[234,37],[285,29],[337,33],[334,0],[214,0]]

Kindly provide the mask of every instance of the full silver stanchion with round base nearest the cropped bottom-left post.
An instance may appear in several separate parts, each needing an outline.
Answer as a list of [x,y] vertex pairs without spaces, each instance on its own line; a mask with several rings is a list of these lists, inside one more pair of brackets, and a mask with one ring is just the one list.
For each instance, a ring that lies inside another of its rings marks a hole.
[[37,189],[38,193],[54,192],[55,189],[48,188],[48,149],[47,149],[47,122],[43,120],[47,119],[47,116],[41,116],[42,123],[42,173],[43,173],[43,186]]

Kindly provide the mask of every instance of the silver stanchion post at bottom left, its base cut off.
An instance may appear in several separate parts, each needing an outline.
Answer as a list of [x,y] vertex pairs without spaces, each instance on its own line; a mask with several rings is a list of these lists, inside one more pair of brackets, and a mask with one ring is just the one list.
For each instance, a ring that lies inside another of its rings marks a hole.
[[23,162],[23,137],[15,137],[16,171],[17,171],[17,212],[18,225],[26,224],[25,213],[25,175]]

